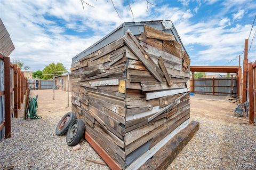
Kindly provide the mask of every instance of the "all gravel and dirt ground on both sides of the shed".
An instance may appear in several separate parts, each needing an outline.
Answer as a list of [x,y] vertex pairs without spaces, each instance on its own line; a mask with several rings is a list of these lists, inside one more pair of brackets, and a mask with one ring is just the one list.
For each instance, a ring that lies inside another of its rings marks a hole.
[[[109,169],[85,160],[103,161],[86,141],[73,151],[66,136],[55,135],[60,118],[70,110],[70,106],[66,108],[67,93],[55,91],[54,101],[51,90],[33,91],[36,94],[38,114],[43,118],[12,120],[12,137],[0,142],[0,169]],[[191,120],[198,121],[200,129],[168,169],[236,169],[246,163],[253,165],[248,169],[256,169],[256,127],[228,117],[235,104],[190,101]]]

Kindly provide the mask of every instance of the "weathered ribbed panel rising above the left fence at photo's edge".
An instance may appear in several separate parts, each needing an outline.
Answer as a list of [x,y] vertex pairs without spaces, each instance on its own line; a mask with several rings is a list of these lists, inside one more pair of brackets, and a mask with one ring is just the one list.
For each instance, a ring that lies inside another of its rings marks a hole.
[[14,48],[10,34],[6,30],[4,23],[0,18],[0,53],[4,56],[9,56]]

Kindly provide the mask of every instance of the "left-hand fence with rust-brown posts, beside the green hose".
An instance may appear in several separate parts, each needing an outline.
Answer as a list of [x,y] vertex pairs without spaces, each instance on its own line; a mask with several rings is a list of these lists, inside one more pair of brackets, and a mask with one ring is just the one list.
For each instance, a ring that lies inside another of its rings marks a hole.
[[18,117],[24,93],[28,88],[23,72],[9,57],[0,54],[0,140],[11,137],[12,117]]

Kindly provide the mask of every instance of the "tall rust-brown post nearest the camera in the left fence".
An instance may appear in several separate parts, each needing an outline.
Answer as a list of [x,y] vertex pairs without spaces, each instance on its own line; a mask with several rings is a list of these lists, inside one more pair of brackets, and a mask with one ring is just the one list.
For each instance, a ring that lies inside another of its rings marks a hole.
[[4,119],[5,138],[11,137],[11,83],[10,83],[10,58],[4,56]]

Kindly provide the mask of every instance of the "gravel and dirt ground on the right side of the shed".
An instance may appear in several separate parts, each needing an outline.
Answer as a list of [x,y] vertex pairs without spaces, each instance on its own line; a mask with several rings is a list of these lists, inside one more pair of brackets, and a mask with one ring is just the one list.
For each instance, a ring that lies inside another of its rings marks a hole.
[[226,117],[235,104],[190,102],[199,131],[167,169],[256,169],[256,126]]

